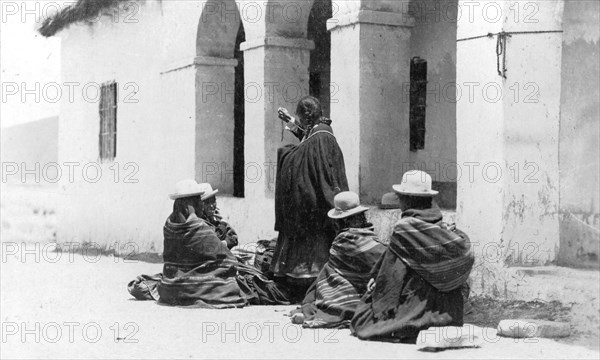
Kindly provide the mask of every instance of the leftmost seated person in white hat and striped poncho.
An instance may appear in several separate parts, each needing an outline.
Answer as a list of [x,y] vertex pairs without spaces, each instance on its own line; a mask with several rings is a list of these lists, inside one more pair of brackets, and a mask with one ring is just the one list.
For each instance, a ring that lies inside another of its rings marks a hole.
[[227,240],[221,240],[215,226],[203,218],[212,206],[205,206],[201,196],[214,198],[216,193],[209,187],[183,180],[175,186],[175,193],[169,195],[175,203],[163,228],[160,304],[202,308],[247,304],[237,284],[237,261],[228,249]]

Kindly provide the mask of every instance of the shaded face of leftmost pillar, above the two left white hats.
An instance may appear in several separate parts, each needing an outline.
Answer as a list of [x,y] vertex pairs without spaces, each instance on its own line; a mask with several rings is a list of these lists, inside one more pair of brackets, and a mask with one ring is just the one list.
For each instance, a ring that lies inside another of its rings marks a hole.
[[210,56],[196,67],[196,180],[233,194],[233,130],[237,60]]

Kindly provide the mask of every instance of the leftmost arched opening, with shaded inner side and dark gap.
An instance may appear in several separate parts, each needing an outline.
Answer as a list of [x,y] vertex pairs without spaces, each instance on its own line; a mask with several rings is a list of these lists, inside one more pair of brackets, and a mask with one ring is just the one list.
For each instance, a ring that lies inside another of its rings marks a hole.
[[234,0],[204,5],[196,39],[196,180],[244,196],[245,32]]

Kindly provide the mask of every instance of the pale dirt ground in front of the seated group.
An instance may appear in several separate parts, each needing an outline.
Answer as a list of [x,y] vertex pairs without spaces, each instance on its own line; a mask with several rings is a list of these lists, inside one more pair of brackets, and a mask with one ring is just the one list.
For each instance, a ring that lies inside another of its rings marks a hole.
[[56,253],[45,246],[55,237],[52,195],[8,200],[3,193],[2,359],[600,357],[597,332],[575,331],[562,340],[496,335],[506,318],[572,320],[571,309],[558,302],[475,298],[466,321],[481,326],[472,329],[482,346],[429,353],[419,345],[361,341],[349,330],[303,329],[284,316],[294,306],[203,310],[135,301],[127,283],[160,272],[161,264]]

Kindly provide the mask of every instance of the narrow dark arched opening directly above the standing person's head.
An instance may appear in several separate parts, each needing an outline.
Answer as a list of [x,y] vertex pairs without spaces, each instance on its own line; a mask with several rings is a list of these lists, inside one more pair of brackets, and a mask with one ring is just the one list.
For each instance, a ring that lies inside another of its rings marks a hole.
[[315,42],[310,54],[310,95],[321,101],[323,116],[329,117],[332,93],[331,84],[331,33],[327,20],[332,15],[331,0],[316,0],[308,18],[308,39]]

